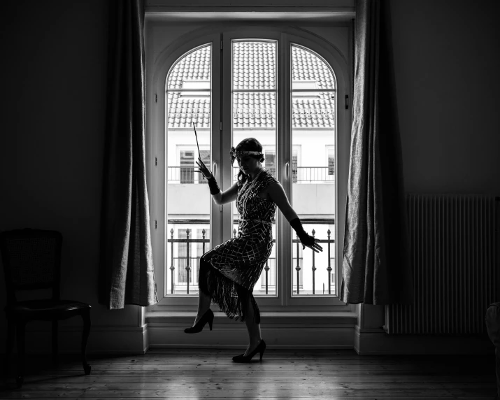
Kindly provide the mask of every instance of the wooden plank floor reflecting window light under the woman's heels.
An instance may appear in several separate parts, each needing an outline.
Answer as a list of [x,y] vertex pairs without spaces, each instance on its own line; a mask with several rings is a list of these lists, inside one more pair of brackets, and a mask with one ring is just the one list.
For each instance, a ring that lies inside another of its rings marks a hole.
[[354,350],[266,350],[262,362],[234,350],[151,350],[140,356],[28,356],[21,389],[4,399],[494,399],[494,355],[359,356]]

